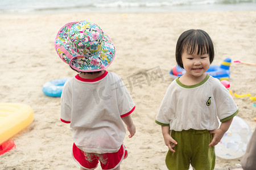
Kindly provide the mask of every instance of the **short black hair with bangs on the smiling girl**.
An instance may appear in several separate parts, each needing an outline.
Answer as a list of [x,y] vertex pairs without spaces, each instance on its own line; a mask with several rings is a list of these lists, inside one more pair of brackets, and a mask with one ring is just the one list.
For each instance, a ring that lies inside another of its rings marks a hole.
[[189,29],[181,33],[176,45],[176,62],[181,68],[184,69],[181,60],[181,54],[187,52],[188,54],[193,54],[196,52],[197,55],[209,54],[210,63],[212,63],[214,58],[214,47],[213,42],[207,32],[201,29]]

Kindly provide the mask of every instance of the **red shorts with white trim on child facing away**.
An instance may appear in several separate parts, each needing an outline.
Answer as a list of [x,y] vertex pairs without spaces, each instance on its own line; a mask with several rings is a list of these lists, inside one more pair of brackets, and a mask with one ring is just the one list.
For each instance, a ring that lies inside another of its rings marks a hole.
[[122,160],[127,157],[127,150],[125,145],[122,145],[120,149],[114,153],[86,153],[80,150],[74,143],[72,155],[75,161],[84,169],[95,169],[98,166],[98,161],[100,161],[102,169],[110,170],[117,168]]

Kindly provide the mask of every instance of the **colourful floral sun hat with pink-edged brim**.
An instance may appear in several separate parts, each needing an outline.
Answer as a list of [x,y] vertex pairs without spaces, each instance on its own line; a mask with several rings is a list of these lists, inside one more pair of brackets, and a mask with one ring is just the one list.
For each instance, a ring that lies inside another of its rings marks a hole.
[[60,58],[82,72],[106,69],[115,57],[109,36],[93,23],[81,21],[65,24],[57,33],[55,49]]

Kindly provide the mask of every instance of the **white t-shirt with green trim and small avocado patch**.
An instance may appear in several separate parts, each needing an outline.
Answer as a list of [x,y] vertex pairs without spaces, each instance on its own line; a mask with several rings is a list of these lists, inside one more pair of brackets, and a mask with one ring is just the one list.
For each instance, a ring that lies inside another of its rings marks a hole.
[[218,129],[220,121],[236,116],[238,107],[220,80],[210,75],[193,86],[176,78],[168,87],[156,115],[156,124],[170,130]]

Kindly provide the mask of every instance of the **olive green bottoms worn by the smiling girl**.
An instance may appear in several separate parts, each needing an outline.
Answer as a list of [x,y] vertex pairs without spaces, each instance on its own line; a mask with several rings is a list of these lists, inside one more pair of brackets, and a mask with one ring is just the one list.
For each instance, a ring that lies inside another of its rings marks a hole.
[[171,136],[177,142],[174,150],[166,155],[166,165],[171,170],[187,170],[189,164],[196,170],[212,170],[215,166],[214,146],[208,146],[214,134],[209,130],[172,130]]

